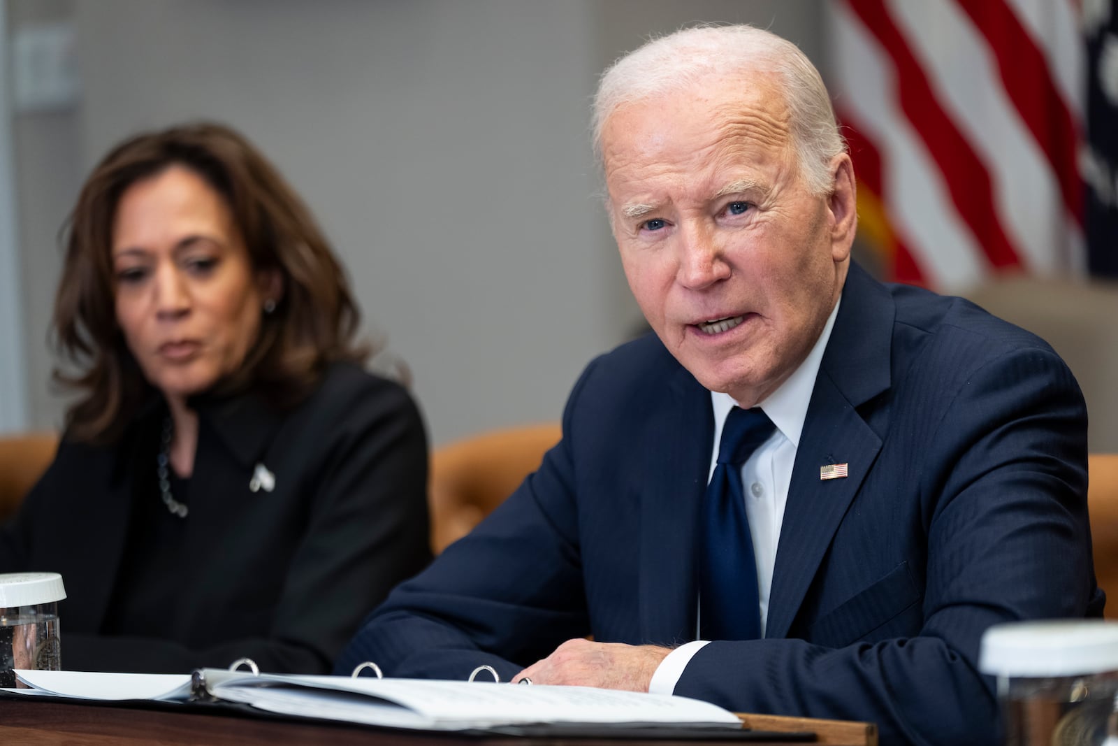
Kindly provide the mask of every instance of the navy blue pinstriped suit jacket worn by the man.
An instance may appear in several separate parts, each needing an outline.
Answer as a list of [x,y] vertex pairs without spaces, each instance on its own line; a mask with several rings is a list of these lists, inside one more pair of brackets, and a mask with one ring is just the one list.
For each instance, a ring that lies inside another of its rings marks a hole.
[[[1036,337],[852,266],[812,394],[765,640],[714,641],[675,693],[738,711],[872,720],[882,743],[991,743],[979,640],[1100,615],[1087,413]],[[560,642],[695,636],[710,394],[655,337],[590,363],[562,442],[468,537],[396,589],[338,670],[503,679]],[[849,476],[819,480],[847,463]]]

